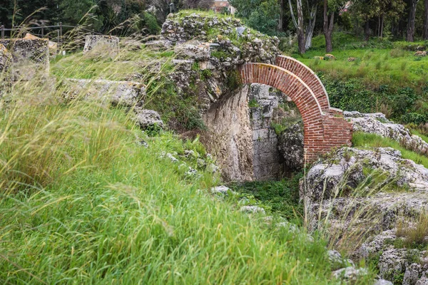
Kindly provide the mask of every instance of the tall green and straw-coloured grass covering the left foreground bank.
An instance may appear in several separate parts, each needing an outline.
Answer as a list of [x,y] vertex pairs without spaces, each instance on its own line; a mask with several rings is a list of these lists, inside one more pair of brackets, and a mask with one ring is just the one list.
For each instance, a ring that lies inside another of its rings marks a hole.
[[186,175],[193,143],[149,138],[125,110],[66,103],[46,84],[15,83],[1,99],[1,283],[339,283],[322,239],[213,199],[209,172]]

